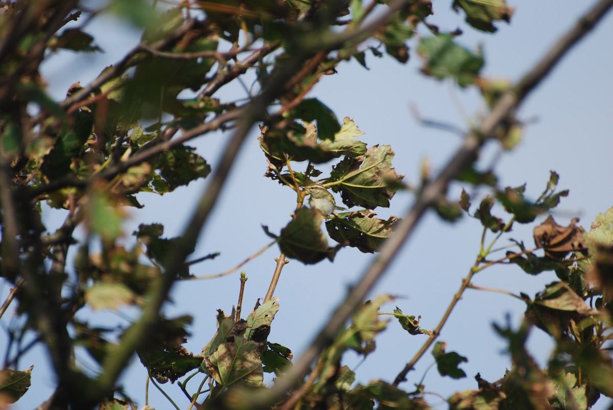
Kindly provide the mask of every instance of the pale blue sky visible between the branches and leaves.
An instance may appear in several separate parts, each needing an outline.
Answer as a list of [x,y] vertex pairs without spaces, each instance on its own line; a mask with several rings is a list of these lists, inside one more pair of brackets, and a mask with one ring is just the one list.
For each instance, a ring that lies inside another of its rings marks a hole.
[[[435,15],[430,17],[430,22],[443,31],[462,28],[464,34],[458,40],[468,48],[474,50],[481,45],[486,57],[486,76],[517,80],[594,2],[517,0],[511,2],[516,6],[511,25],[501,23],[498,25],[500,31],[495,35],[466,26],[462,16],[449,9],[450,3],[435,1]],[[83,84],[90,82],[103,67],[118,61],[139,41],[138,31],[112,17],[95,19],[88,26],[88,32],[96,37],[97,44],[105,50],[104,54],[77,56],[64,52],[43,66],[50,94],[58,100],[63,98],[70,84],[77,80]],[[427,35],[423,28],[419,34]],[[569,197],[562,200],[554,213],[561,225],[579,216],[580,224],[588,229],[596,214],[613,206],[612,38],[613,15],[610,14],[528,97],[519,112],[520,119],[530,120],[524,140],[516,150],[504,153],[497,162],[501,185],[527,183],[528,196],[533,199],[543,191],[549,171],[557,171],[560,174],[559,187],[570,190]],[[422,126],[409,112],[409,106],[417,107],[425,118],[451,123],[462,129],[468,129],[469,121],[484,113],[484,106],[473,89],[458,89],[449,82],[438,82],[420,74],[422,62],[414,52],[416,44],[411,46],[411,59],[406,65],[388,56],[368,58],[370,70],[355,62],[341,64],[338,74],[324,77],[311,96],[329,105],[339,119],[351,117],[365,132],[360,139],[369,146],[391,145],[396,153],[393,164],[397,172],[406,174],[406,182],[417,183],[422,161],[427,159],[436,172],[459,146],[460,138]],[[229,85],[220,95],[229,100],[244,96],[244,92],[238,85]],[[196,275],[227,270],[253,254],[269,241],[261,225],[278,232],[294,210],[293,192],[262,177],[266,162],[257,145],[257,134],[255,128],[248,137],[230,175],[230,184],[224,189],[194,254],[200,257],[221,252],[221,256],[196,265],[192,271]],[[207,135],[190,144],[197,146],[199,153],[215,167],[227,137],[226,134]],[[493,144],[487,146],[481,163],[489,164],[498,151]],[[132,219],[124,229],[127,240],[131,239],[129,233],[143,222],[161,222],[166,227],[164,233],[167,237],[178,235],[194,200],[205,187],[206,181],[199,181],[163,197],[142,194],[139,199],[146,206],[143,210],[129,210]],[[449,197],[459,199],[461,188],[459,184],[455,185]],[[477,197],[487,194],[484,189],[473,192]],[[411,201],[411,196],[400,193],[389,210],[378,210],[379,216],[400,216]],[[477,203],[473,201],[473,210]],[[48,229],[52,230],[61,224],[62,214],[47,211],[44,218]],[[546,216],[537,219],[535,224],[544,218]],[[509,237],[531,244],[533,226],[516,226]],[[407,314],[421,315],[422,327],[434,328],[473,264],[480,238],[480,225],[470,218],[446,224],[428,213],[371,297],[383,293],[397,295],[397,300],[384,306],[384,311],[392,311],[397,305]],[[500,245],[506,244],[508,242],[503,238]],[[264,297],[275,267],[273,259],[278,252],[276,247],[268,249],[243,268],[249,278],[243,299],[246,309],[253,306],[257,298]],[[333,264],[321,262],[305,267],[292,261],[286,265],[275,293],[280,298],[281,309],[268,340],[291,348],[294,357],[300,355],[313,333],[326,321],[330,309],[340,303],[348,286],[359,278],[372,258],[370,254],[349,248],[343,249]],[[518,268],[501,266],[479,273],[473,283],[534,295],[554,280],[553,272],[528,276]],[[1,291],[2,295],[6,294],[6,287]],[[216,309],[231,311],[237,295],[238,273],[175,286],[174,303],[167,307],[166,313],[169,316],[185,313],[194,316],[188,350],[200,352],[215,332]],[[462,365],[468,377],[452,381],[441,378],[432,368],[425,376],[426,390],[447,397],[456,391],[476,389],[473,376],[478,372],[490,381],[503,376],[510,362],[501,353],[504,343],[495,335],[491,324],[503,323],[506,314],[510,315],[513,324],[517,324],[524,309],[525,305],[506,295],[468,290],[440,338],[448,343],[449,351],[468,357],[468,363]],[[133,313],[125,312],[128,315]],[[120,316],[104,313],[89,317],[104,322]],[[0,345],[2,340],[4,333],[0,335]],[[359,366],[358,381],[365,383],[376,378],[393,381],[424,341],[425,336],[409,336],[396,322],[390,322],[378,338],[376,351]],[[546,362],[552,344],[543,332],[533,330],[529,346],[539,363]],[[23,368],[35,365],[33,386],[15,409],[32,408],[53,390],[48,363],[42,354],[42,349],[36,349],[21,362]],[[348,355],[346,364],[355,366],[360,360]],[[411,390],[432,363],[432,356],[425,355],[402,387]],[[137,360],[122,379],[128,393],[139,402],[139,407],[144,404],[145,379],[146,373]],[[183,397],[177,386],[167,385],[165,390],[172,397]],[[446,407],[435,396],[428,396],[428,400],[432,405]],[[150,389],[150,403],[158,409],[169,407],[154,389]],[[601,400],[598,408],[606,408],[610,403]]]

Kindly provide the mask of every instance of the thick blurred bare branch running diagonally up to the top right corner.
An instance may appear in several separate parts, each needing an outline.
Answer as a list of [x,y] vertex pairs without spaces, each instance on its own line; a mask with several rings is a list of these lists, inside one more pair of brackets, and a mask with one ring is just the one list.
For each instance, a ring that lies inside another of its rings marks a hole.
[[383,276],[387,267],[389,267],[408,237],[413,233],[425,211],[446,192],[449,183],[471,164],[485,140],[493,138],[493,131],[495,131],[498,124],[519,107],[530,91],[549,74],[571,47],[584,37],[612,6],[613,0],[601,0],[598,2],[520,80],[516,89],[507,92],[501,97],[500,101],[493,107],[490,115],[466,137],[463,145],[460,146],[455,155],[447,162],[446,167],[444,167],[438,177],[432,183],[425,186],[421,196],[414,203],[413,208],[406,213],[397,231],[394,232],[394,236],[386,241],[378,257],[367,268],[356,285],[352,287],[345,300],[335,309],[330,319],[324,324],[324,327],[322,327],[300,359],[294,363],[294,366],[283,377],[276,380],[275,385],[270,390],[257,396],[251,396],[249,400],[251,408],[266,408],[270,403],[281,400],[287,390],[291,389],[292,385],[295,384],[295,381],[301,379],[303,374],[307,373],[313,360],[321,354],[326,346],[332,343],[341,327],[345,325],[347,318],[362,303],[364,298],[367,297],[368,292]]

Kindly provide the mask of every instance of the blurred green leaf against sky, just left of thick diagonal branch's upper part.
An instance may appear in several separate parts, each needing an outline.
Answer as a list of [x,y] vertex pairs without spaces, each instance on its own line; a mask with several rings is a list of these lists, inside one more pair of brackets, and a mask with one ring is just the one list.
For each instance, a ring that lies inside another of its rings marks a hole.
[[438,34],[435,37],[422,39],[417,47],[425,60],[422,72],[425,75],[442,80],[454,77],[462,87],[474,83],[483,67],[484,59],[481,50],[477,54],[465,47],[455,44],[451,35]]

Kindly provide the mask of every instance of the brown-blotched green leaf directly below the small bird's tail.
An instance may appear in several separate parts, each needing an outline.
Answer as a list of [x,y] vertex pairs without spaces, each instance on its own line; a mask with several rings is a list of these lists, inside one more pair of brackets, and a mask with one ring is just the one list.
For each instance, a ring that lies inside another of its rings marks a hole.
[[386,221],[374,218],[374,213],[367,210],[344,212],[326,221],[326,229],[330,238],[341,245],[372,253],[392,236],[394,225],[399,220],[396,216],[390,216]]

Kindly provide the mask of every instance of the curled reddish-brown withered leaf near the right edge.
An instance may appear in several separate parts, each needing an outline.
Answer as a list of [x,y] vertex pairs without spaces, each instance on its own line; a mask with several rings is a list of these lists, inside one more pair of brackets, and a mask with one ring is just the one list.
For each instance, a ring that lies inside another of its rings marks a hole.
[[545,222],[535,227],[534,238],[537,248],[543,248],[551,259],[564,259],[568,252],[587,254],[587,245],[581,238],[583,228],[577,226],[579,218],[574,218],[567,227],[558,225],[549,215]]

